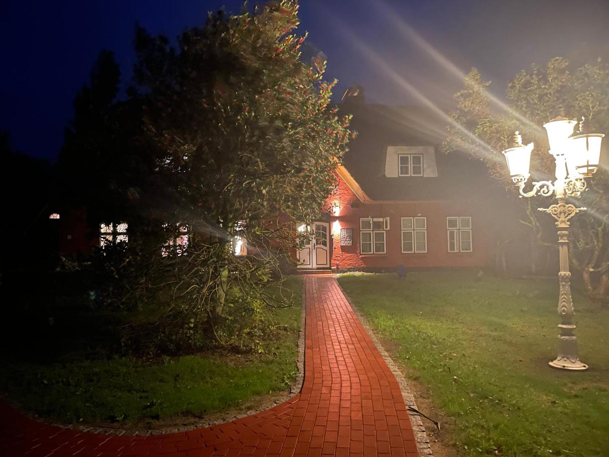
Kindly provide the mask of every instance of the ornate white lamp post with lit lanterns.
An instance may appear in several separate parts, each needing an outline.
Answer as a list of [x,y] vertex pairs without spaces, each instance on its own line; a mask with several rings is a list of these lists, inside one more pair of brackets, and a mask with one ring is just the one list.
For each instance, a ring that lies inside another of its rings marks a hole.
[[579,123],[579,131],[573,132],[576,121],[567,118],[556,118],[544,127],[550,143],[549,153],[556,163],[556,179],[533,182],[533,188],[524,192],[530,177],[530,155],[533,143],[526,146],[518,132],[514,136],[513,147],[505,149],[505,156],[510,171],[510,178],[518,188],[520,197],[554,196],[557,203],[549,208],[538,208],[556,219],[558,228],[558,253],[560,271],[558,272],[558,315],[560,316],[560,335],[558,335],[558,356],[550,366],[564,370],[586,370],[588,365],[579,360],[577,355],[577,337],[573,335],[576,325],[573,323],[573,302],[571,299],[571,272],[569,272],[569,219],[586,208],[577,208],[566,202],[568,197],[579,198],[586,190],[585,178],[591,177],[599,167],[600,143],[602,133],[591,133],[585,119]]

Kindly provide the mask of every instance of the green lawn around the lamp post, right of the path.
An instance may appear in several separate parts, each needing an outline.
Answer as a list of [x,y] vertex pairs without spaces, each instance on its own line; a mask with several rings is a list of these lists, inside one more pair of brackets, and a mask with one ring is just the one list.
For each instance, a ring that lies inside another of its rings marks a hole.
[[609,456],[609,310],[574,292],[587,372],[556,356],[557,281],[466,273],[343,275],[392,354],[456,423],[462,455]]

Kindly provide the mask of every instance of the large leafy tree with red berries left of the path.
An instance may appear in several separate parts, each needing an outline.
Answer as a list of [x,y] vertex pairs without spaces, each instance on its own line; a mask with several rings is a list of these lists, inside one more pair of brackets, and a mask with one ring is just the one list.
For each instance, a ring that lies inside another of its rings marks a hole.
[[[114,276],[130,278],[121,290],[140,304],[165,300],[179,331],[211,325],[230,342],[234,332],[220,327],[238,320],[235,310],[276,304],[265,289],[301,241],[296,224],[328,211],[350,118],[331,104],[325,62],[303,58],[297,13],[284,0],[210,14],[177,44],[136,29],[130,95],[143,107],[138,146],[155,166],[125,186],[132,233]],[[161,257],[180,227],[191,235],[186,255]]]

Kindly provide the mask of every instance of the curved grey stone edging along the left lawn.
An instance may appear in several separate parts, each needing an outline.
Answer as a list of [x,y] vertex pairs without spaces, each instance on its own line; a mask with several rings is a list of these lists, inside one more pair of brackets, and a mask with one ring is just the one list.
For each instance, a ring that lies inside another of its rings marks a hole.
[[[298,367],[298,373],[296,378],[292,384],[290,384],[290,389],[288,392],[280,395],[275,400],[274,405],[281,405],[281,403],[287,402],[287,400],[291,399],[297,394],[300,394],[302,390],[303,383],[305,382],[305,325],[306,325],[306,297],[305,297],[305,282],[301,280],[301,288],[302,288],[302,303],[300,306],[300,329],[298,330],[298,346],[296,351],[296,365]],[[267,405],[268,406],[268,405]],[[270,408],[272,408],[271,406]],[[129,428],[113,428],[113,427],[96,427],[96,426],[87,426],[87,425],[65,425],[63,423],[52,423],[47,420],[44,420],[43,417],[38,417],[35,414],[25,414],[30,419],[37,420],[38,422],[48,423],[53,427],[67,428],[69,430],[78,430],[82,432],[88,433],[97,433],[97,434],[107,434],[107,435],[127,435],[127,436],[147,436],[147,435],[159,435],[159,434],[167,434],[167,433],[178,433],[181,431],[189,431],[189,430],[197,430],[197,428],[205,428],[205,427],[213,427],[214,425],[219,425],[220,423],[233,422],[233,420],[241,419],[242,417],[252,416],[253,414],[262,413],[262,411],[267,411],[270,409],[268,407],[264,408],[253,408],[248,409],[243,414],[231,414],[227,412],[226,416],[222,415],[222,411],[218,414],[217,419],[213,420],[205,420],[201,419],[200,421],[195,421],[190,425],[186,425],[183,427],[166,427],[166,428],[151,428],[151,429],[129,429]]]

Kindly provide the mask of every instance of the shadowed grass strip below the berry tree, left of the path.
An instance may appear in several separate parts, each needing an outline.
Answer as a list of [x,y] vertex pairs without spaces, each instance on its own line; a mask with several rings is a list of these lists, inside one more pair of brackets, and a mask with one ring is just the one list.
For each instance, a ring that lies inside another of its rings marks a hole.
[[0,366],[0,388],[40,416],[125,425],[212,413],[284,391],[297,373],[300,278],[288,278],[284,288],[294,294],[295,306],[268,311],[269,321],[281,330],[259,342],[259,354],[219,351],[153,362],[118,357],[87,361],[77,353],[72,361],[69,355],[50,363],[7,360]]

